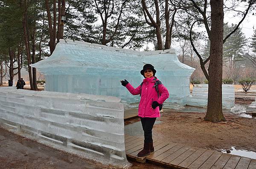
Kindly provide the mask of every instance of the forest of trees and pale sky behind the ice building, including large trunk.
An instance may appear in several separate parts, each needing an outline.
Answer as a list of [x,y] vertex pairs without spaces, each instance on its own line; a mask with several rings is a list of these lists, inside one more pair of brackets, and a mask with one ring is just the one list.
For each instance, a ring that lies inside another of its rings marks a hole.
[[221,101],[209,105],[221,100],[222,79],[236,84],[256,77],[255,21],[251,37],[242,27],[255,6],[256,0],[0,0],[0,85],[26,70],[24,79],[37,90],[42,76],[29,65],[49,57],[59,39],[140,51],[175,48],[196,69],[191,82],[209,82],[207,113],[218,112],[211,121],[224,121]]

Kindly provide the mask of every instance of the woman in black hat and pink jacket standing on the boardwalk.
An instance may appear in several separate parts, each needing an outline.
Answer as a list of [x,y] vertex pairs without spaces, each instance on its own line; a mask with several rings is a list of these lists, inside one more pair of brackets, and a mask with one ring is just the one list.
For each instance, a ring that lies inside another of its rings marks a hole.
[[[149,155],[154,152],[152,128],[157,117],[160,117],[159,106],[169,97],[166,87],[155,77],[157,71],[151,64],[143,66],[140,73],[144,76],[143,83],[136,89],[127,81],[122,80],[125,86],[133,95],[141,95],[138,116],[144,131],[144,147],[138,153],[138,157]],[[157,90],[158,89],[158,92]]]

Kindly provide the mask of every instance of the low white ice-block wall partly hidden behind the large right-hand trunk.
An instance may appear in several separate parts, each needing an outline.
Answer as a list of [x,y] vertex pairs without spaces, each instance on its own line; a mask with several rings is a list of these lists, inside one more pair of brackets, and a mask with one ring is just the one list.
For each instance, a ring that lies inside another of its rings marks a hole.
[[[188,97],[187,105],[207,107],[208,85],[193,87],[192,95]],[[222,108],[231,109],[235,106],[235,88],[233,85],[222,85]]]

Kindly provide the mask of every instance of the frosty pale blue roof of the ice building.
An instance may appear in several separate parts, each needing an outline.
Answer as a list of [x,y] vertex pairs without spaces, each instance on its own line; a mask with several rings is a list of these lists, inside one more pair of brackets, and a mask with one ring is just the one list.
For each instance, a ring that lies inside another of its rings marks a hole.
[[31,66],[42,72],[49,68],[61,70],[67,67],[141,70],[146,63],[151,63],[158,70],[194,71],[194,68],[179,62],[174,49],[142,52],[70,39],[61,39],[50,57]]

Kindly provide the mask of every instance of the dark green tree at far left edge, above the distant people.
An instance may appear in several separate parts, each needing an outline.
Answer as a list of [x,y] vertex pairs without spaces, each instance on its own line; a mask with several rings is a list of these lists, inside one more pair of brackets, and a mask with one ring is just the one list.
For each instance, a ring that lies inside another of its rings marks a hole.
[[[9,68],[9,78],[13,81],[16,74],[20,75],[22,67],[20,44],[22,38],[22,10],[15,0],[2,0],[0,6],[0,46],[1,54]],[[17,66],[16,66],[17,65]]]

